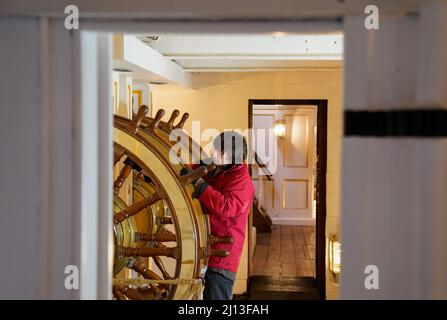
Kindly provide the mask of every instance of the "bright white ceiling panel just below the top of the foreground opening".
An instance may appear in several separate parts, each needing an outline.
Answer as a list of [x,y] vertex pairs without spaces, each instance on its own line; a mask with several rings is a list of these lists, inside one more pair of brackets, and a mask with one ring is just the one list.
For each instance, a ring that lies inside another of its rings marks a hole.
[[139,39],[170,59],[340,60],[343,35],[167,35]]

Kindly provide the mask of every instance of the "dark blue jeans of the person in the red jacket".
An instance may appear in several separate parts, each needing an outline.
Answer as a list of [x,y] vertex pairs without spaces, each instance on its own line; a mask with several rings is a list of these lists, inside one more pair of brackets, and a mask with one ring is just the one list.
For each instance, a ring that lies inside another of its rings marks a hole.
[[205,290],[203,300],[231,300],[234,281],[220,273],[207,270],[205,273]]

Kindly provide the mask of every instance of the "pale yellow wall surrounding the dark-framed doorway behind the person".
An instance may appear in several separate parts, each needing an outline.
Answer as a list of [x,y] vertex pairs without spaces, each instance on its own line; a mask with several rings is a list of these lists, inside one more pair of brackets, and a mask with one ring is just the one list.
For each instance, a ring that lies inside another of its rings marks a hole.
[[[314,69],[250,73],[201,73],[196,89],[160,85],[153,87],[154,110],[188,112],[200,120],[201,130],[248,127],[249,99],[328,99],[327,235],[338,234],[340,206],[340,155],[342,139],[342,70]],[[168,116],[165,116],[166,118]],[[207,142],[202,142],[202,145]],[[234,293],[246,288],[248,254],[245,246]],[[338,287],[327,277],[327,298],[337,298]]]

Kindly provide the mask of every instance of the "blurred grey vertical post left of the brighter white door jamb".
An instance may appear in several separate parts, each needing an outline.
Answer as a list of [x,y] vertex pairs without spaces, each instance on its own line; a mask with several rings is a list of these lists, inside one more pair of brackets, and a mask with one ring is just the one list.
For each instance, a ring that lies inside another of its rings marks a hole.
[[[44,22],[45,23],[45,20]],[[48,292],[42,298],[79,299],[80,290],[65,288],[65,268],[74,265],[81,277],[81,142],[79,32],[69,32],[62,21],[47,20],[42,31],[42,115],[44,123],[43,185],[48,219],[41,226],[49,243],[41,259],[47,264]],[[23,75],[21,75],[23,76]],[[31,138],[33,139],[33,138]]]

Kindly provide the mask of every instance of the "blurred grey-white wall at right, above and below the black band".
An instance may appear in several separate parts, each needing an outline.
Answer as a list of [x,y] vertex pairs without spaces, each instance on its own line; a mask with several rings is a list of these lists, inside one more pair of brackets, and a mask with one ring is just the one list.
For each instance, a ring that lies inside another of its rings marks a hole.
[[[345,18],[345,110],[417,108],[420,18],[381,15],[371,31],[364,18]],[[447,298],[446,157],[446,139],[344,138],[340,298]]]

